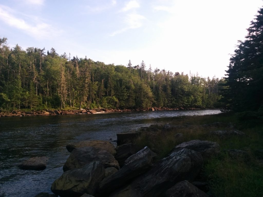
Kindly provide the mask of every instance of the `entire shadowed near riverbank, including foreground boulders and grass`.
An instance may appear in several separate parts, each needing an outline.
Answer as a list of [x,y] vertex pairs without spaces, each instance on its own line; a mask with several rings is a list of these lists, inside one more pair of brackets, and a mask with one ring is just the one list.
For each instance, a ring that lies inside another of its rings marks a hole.
[[[60,196],[70,192],[72,196],[88,193],[116,197],[263,194],[262,123],[251,125],[249,120],[240,122],[236,114],[221,113],[143,127],[134,137],[121,134],[124,137],[115,148],[117,153],[111,153],[114,157],[107,153],[108,148],[97,153],[96,148],[101,147],[90,142],[67,145],[71,153],[63,166],[65,172],[53,182],[51,190]],[[86,154],[98,156],[84,161],[91,158],[83,156]],[[92,176],[88,180],[94,184],[81,187],[86,180],[75,174],[91,168],[96,174],[89,173]],[[112,169],[114,172],[107,177],[106,171]],[[74,182],[80,179],[81,183]],[[78,189],[72,187],[73,182]]]

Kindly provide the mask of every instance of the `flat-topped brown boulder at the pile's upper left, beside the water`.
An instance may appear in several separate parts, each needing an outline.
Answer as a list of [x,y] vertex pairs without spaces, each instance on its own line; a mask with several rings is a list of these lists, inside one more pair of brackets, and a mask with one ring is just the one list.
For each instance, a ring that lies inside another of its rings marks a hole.
[[98,148],[104,151],[108,151],[112,155],[116,154],[116,150],[113,144],[108,141],[102,141],[102,140],[89,140],[89,141],[80,141],[76,143],[69,143],[66,146],[66,148],[71,153],[75,148],[88,147],[88,146]]

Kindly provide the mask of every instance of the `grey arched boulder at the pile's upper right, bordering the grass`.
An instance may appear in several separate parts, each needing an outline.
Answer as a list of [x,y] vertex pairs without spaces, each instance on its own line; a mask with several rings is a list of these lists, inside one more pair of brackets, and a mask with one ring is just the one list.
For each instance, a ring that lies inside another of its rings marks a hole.
[[220,152],[219,144],[210,141],[191,140],[189,142],[183,142],[177,145],[173,151],[179,151],[183,148],[188,148],[197,152],[200,152],[204,160],[209,159],[211,156]]

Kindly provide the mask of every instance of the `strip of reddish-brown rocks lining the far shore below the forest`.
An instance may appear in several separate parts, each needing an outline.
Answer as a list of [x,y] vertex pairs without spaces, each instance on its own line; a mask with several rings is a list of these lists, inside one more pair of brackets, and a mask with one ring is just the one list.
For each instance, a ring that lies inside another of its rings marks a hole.
[[93,114],[93,113],[110,113],[110,112],[131,112],[131,111],[164,111],[164,110],[200,110],[200,108],[169,108],[169,107],[148,107],[148,108],[138,108],[138,109],[80,109],[80,110],[32,110],[32,111],[0,111],[0,117],[16,117],[16,116],[53,116],[53,115],[73,115],[73,114]]

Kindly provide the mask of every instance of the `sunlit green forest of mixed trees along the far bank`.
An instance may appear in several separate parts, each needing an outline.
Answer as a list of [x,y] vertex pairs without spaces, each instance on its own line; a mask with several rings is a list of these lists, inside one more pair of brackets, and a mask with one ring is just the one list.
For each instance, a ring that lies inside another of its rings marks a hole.
[[19,45],[0,38],[0,108],[147,108],[219,106],[223,79],[198,74],[105,64],[58,55],[54,48]]

